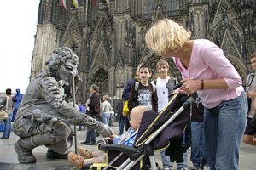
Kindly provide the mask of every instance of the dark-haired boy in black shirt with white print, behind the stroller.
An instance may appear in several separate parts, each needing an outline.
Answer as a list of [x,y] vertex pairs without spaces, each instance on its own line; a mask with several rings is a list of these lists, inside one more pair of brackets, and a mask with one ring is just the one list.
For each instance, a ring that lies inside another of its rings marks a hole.
[[146,105],[148,109],[158,111],[158,99],[154,86],[148,81],[151,77],[151,69],[147,65],[139,68],[140,82],[135,82],[131,87],[128,99],[128,108],[131,111],[137,105]]

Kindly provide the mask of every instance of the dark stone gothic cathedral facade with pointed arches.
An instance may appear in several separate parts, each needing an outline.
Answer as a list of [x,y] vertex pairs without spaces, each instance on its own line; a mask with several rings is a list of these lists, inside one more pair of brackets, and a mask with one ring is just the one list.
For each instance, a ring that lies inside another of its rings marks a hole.
[[[125,82],[137,65],[150,65],[153,73],[160,56],[151,53],[144,36],[156,20],[171,18],[192,32],[192,39],[218,44],[243,80],[250,71],[249,57],[256,52],[255,0],[40,0],[32,54],[31,78],[45,68],[57,47],[67,46],[79,56],[77,99],[85,102],[90,85],[100,94],[120,99]],[[180,79],[169,60],[172,77]],[[156,73],[154,73],[155,76]]]

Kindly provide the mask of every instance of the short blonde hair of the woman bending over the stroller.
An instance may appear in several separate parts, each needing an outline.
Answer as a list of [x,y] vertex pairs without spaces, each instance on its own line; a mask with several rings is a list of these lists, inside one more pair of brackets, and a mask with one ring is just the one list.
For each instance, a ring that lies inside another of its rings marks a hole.
[[183,46],[191,32],[170,19],[154,23],[145,36],[148,48],[157,54],[166,54]]

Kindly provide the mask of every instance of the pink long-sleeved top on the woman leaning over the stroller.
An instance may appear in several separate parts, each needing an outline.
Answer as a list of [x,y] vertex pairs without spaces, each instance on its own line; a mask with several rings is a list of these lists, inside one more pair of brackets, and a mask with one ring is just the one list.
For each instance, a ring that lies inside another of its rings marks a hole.
[[202,104],[209,109],[224,100],[235,99],[243,91],[241,77],[235,67],[224,56],[222,49],[206,39],[193,40],[191,59],[187,69],[180,59],[173,57],[173,60],[183,78],[195,80],[224,78],[229,88],[197,91]]

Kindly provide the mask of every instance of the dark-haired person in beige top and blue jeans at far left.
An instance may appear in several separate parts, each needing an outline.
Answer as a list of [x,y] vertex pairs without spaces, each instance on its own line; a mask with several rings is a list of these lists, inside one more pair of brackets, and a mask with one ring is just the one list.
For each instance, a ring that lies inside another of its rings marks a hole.
[[[13,97],[12,97],[12,90],[7,88],[5,90],[6,96],[3,98],[3,101],[0,105],[3,105],[3,111],[6,111],[8,114],[8,118],[3,120],[5,125],[5,130],[3,131],[3,135],[0,139],[9,139],[10,132],[11,132],[11,117],[13,114]],[[6,107],[7,106],[7,107]]]

